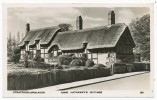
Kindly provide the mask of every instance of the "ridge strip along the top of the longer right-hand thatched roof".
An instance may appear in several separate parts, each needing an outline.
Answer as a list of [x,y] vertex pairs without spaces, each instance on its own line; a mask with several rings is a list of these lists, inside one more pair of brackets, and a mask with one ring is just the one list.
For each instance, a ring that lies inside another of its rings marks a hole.
[[84,31],[89,31],[89,30],[95,30],[95,29],[101,29],[101,28],[105,28],[105,27],[108,27],[108,26],[117,26],[117,25],[125,25],[125,23],[116,23],[116,24],[113,24],[113,25],[105,25],[105,26],[98,26],[98,27],[92,27],[92,28],[86,28],[86,29],[82,29],[82,30],[70,30],[70,31],[65,31],[65,32],[59,32],[60,34],[64,34],[64,33],[72,33],[72,32],[84,32]]

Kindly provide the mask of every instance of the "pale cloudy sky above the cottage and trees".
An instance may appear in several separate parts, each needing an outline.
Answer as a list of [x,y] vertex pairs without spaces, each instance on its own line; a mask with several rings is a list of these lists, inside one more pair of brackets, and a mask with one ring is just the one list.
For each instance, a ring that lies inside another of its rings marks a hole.
[[[76,18],[82,16],[83,29],[108,24],[108,12],[114,10],[116,23],[129,23],[137,17],[149,14],[147,7],[14,7],[7,9],[8,34],[15,38],[17,33],[25,35],[26,23],[31,29],[57,26],[69,23],[76,29]],[[21,37],[20,36],[20,37]]]

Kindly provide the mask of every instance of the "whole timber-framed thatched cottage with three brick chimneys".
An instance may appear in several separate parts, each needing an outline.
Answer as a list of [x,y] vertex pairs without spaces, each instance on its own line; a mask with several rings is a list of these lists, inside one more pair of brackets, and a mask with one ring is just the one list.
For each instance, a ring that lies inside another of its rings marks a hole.
[[128,26],[115,23],[115,13],[108,13],[108,25],[83,29],[81,16],[76,19],[77,30],[61,32],[58,27],[47,27],[30,30],[18,46],[22,55],[29,53],[32,59],[37,53],[45,62],[57,61],[61,54],[75,54],[79,57],[86,53],[95,63],[106,65],[108,62],[134,62],[133,48],[135,43]]

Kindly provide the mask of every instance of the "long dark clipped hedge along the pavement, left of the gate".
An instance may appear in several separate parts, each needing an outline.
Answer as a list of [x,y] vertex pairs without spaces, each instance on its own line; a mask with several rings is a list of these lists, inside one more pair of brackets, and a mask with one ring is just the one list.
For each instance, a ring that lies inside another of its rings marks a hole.
[[109,68],[54,69],[39,73],[8,73],[8,90],[28,90],[110,75]]

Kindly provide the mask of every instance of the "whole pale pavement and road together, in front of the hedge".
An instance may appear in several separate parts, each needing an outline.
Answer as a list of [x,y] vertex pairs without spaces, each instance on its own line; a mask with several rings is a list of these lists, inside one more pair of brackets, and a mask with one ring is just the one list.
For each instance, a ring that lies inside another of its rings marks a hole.
[[[140,82],[140,83],[138,83]],[[149,72],[143,71],[143,72],[132,72],[132,73],[124,73],[124,74],[115,74],[108,77],[102,77],[102,78],[95,78],[95,79],[89,79],[89,80],[82,80],[77,82],[71,82],[71,83],[65,83],[55,86],[49,86],[39,89],[33,89],[33,90],[100,90],[100,89],[141,89],[145,87],[145,89],[149,88]],[[140,84],[137,86],[137,84]],[[111,88],[112,87],[112,88]],[[128,88],[126,88],[128,87]]]

